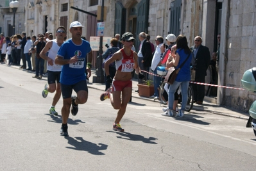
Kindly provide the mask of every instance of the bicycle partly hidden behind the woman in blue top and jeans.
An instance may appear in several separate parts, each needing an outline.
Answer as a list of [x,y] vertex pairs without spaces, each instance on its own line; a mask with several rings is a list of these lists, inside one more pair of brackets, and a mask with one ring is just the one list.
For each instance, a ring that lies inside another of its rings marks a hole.
[[[166,99],[164,99],[164,96],[163,96],[164,86],[166,85],[166,83],[164,83],[164,78],[165,76],[162,76],[162,81],[160,84],[160,103],[167,104]],[[182,94],[179,95],[178,104],[180,104],[181,102],[182,102]],[[185,111],[191,111],[191,109],[193,108],[193,105],[194,105],[194,91],[191,83],[189,83],[189,88],[187,89],[187,104],[185,107]]]

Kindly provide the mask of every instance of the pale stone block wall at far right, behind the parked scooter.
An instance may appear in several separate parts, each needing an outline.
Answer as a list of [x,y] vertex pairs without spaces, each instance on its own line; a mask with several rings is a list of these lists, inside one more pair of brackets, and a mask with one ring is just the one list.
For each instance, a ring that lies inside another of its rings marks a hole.
[[[256,66],[255,12],[255,1],[230,1],[228,35],[226,35],[228,53],[225,55],[227,86],[243,88],[241,85],[243,73]],[[247,90],[225,89],[224,99],[226,106],[248,111],[252,102],[255,101],[255,94]]]

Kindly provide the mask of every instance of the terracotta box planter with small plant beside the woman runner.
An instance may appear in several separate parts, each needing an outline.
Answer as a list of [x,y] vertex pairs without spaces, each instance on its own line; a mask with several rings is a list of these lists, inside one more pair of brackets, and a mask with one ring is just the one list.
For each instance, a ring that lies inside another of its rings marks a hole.
[[154,95],[153,80],[144,80],[144,83],[138,84],[139,96],[150,97]]

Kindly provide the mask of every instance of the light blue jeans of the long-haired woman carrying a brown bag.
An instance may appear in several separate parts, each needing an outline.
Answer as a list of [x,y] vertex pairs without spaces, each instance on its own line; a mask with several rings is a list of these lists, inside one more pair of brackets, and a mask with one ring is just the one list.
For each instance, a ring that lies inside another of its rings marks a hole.
[[169,87],[169,96],[168,96],[168,106],[170,110],[173,110],[173,102],[175,101],[175,92],[178,86],[182,88],[182,111],[185,111],[185,107],[187,104],[187,90],[189,89],[189,81],[178,82],[175,81],[173,85]]

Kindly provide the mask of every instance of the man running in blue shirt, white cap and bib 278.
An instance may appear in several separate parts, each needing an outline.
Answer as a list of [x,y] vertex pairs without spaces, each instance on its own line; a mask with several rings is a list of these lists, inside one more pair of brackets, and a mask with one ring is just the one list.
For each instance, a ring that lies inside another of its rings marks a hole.
[[[81,38],[83,27],[78,21],[71,22],[69,31],[72,38],[62,44],[55,58],[56,65],[63,65],[60,74],[63,97],[60,135],[63,136],[69,135],[67,120],[71,105],[71,113],[75,116],[78,113],[78,104],[84,104],[88,99],[86,77],[91,76],[92,49],[89,42]],[[85,67],[87,67],[88,76],[85,75]],[[73,90],[77,96],[71,96]]]

